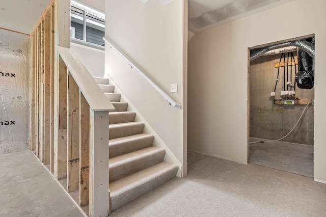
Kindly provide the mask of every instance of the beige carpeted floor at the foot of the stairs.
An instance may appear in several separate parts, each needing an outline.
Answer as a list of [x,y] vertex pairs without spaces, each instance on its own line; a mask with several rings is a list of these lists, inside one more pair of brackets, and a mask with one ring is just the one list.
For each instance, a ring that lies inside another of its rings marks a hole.
[[324,216],[326,184],[254,164],[188,154],[174,178],[111,216]]

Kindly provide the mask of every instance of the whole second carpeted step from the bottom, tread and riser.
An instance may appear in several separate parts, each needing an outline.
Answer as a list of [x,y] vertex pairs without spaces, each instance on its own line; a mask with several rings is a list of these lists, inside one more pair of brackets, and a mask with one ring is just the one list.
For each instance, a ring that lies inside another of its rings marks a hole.
[[164,155],[165,149],[152,146],[110,158],[108,160],[110,174],[109,181],[116,181],[158,164],[164,160]]

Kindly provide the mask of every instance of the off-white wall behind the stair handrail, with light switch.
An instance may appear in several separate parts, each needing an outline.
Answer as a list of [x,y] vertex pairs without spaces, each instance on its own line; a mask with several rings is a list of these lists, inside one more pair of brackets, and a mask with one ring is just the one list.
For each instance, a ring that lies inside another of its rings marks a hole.
[[[183,42],[187,41],[183,37],[184,4],[179,0],[168,5],[160,1],[145,4],[134,0],[105,2],[105,36],[181,104],[182,109],[169,105],[108,46],[105,48],[105,73],[137,108],[157,133],[157,139],[168,147],[180,165],[186,143],[186,138],[183,140],[186,120],[186,114],[183,115],[186,111],[183,97]],[[170,84],[178,84],[178,93],[170,93]]]

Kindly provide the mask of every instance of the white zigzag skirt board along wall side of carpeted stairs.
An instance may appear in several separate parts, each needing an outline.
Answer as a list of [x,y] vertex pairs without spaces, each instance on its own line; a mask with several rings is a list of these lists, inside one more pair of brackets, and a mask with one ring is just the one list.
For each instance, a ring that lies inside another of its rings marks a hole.
[[135,118],[135,121],[143,122],[145,124],[144,133],[149,133],[149,134],[154,135],[153,146],[164,148],[166,150],[164,160],[168,161],[168,162],[171,162],[171,163],[178,166],[179,169],[178,169],[178,172],[177,172],[177,176],[181,178],[182,177],[182,164],[181,164],[181,162],[179,162],[179,160],[174,156],[174,154],[167,147],[167,145],[160,139],[158,134],[154,131],[154,129],[150,126],[150,124],[145,120],[145,118],[141,115],[141,113],[137,110],[137,108],[123,94],[123,92],[119,89],[119,87],[113,81],[113,79],[110,77],[110,75],[105,74],[104,78],[108,78],[108,84],[109,85],[115,86],[115,93],[120,93],[121,94],[121,100],[120,101],[128,102],[127,111],[135,112],[137,114],[136,118]]

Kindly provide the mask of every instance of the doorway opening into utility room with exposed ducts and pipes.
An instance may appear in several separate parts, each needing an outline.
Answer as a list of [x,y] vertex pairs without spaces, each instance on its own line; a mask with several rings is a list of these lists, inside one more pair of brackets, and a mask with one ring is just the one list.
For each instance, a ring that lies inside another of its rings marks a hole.
[[249,162],[313,177],[314,35],[250,48]]

